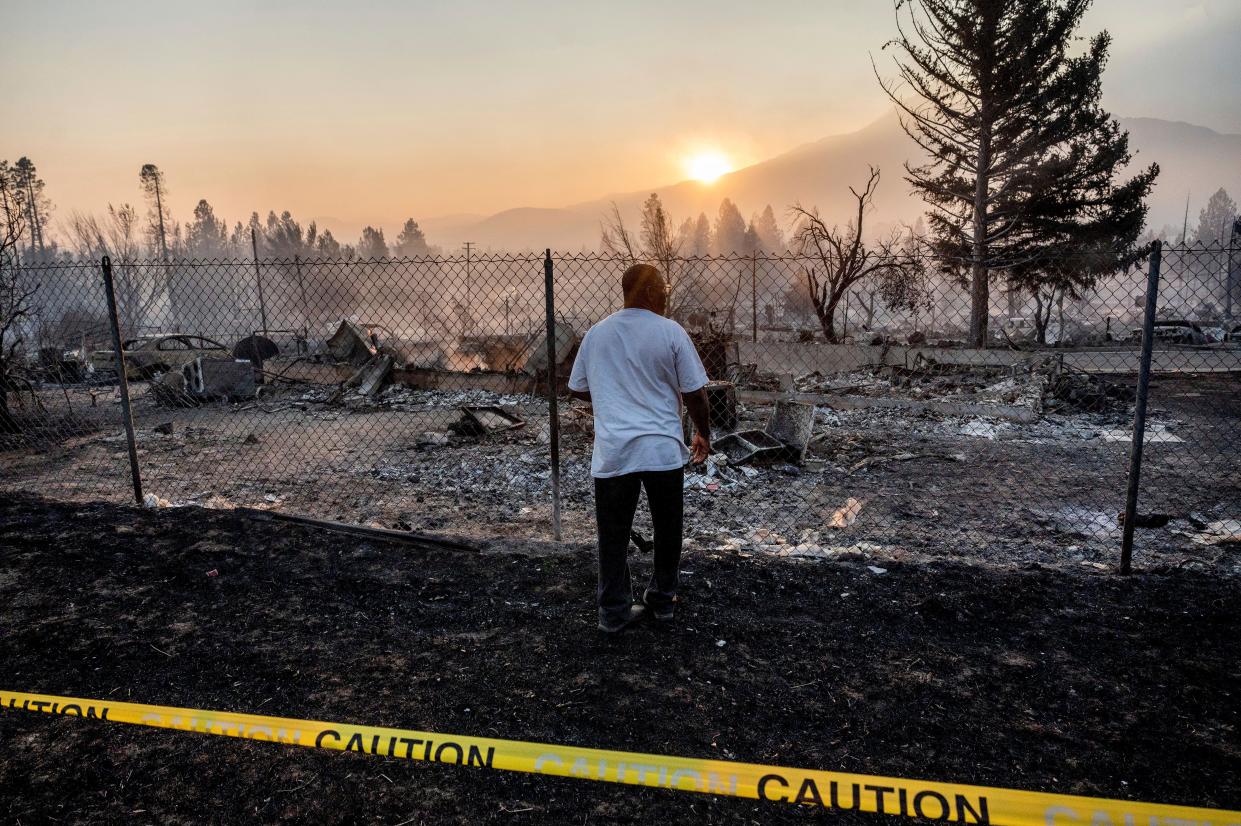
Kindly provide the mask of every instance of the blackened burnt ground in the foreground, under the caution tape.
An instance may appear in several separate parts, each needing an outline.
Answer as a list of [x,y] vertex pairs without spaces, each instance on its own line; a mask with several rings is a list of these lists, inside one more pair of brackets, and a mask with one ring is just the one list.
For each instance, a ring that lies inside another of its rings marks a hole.
[[[684,568],[673,625],[608,640],[589,553],[19,494],[0,661],[41,693],[1241,806],[1236,578],[704,548]],[[7,709],[0,742],[9,824],[880,822]]]

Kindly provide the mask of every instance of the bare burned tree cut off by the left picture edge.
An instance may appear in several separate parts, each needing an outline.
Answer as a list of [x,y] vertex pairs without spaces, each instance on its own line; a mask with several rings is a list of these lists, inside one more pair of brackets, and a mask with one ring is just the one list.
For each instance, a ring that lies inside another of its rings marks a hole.
[[19,200],[9,169],[0,167],[0,432],[12,433],[19,422],[10,409],[12,394],[21,388],[22,326],[30,318],[37,284],[26,283],[17,263],[17,243],[25,232]]

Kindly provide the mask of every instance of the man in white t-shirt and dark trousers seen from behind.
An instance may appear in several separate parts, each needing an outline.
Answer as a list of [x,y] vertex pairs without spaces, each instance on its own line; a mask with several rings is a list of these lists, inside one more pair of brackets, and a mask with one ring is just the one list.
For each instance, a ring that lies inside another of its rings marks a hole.
[[[668,282],[650,264],[620,279],[624,309],[587,331],[568,389],[594,408],[594,517],[599,531],[599,630],[617,633],[645,609],[670,620],[680,577],[685,463],[711,451],[706,371],[689,334],[671,319]],[[681,401],[694,422],[692,454],[681,432]],[[633,604],[629,532],[645,489],[654,523],[654,573]]]

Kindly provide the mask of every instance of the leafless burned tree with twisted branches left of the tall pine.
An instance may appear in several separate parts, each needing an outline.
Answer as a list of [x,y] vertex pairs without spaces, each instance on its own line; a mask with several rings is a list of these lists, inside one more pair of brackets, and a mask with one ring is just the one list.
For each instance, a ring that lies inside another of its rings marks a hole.
[[911,290],[905,282],[921,278],[920,259],[902,249],[903,238],[894,237],[871,244],[862,241],[866,211],[877,187],[879,170],[874,166],[861,192],[849,187],[858,201],[858,212],[844,229],[829,227],[817,208],[807,210],[802,205],[792,208],[797,221],[793,249],[817,262],[805,268],[805,288],[823,336],[830,344],[839,341],[836,308],[850,289],[877,282],[881,295],[901,298]]

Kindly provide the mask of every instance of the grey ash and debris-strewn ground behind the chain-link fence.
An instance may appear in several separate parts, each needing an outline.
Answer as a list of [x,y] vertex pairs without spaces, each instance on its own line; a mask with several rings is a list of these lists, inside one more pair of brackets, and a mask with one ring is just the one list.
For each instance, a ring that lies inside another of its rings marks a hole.
[[[1111,568],[1121,538],[1132,378],[1109,382],[1114,398],[1103,404],[1082,404],[1080,387],[1056,382],[1062,377],[1037,370],[802,376],[794,391],[965,402],[969,414],[819,406],[802,464],[737,466],[717,456],[691,469],[688,548],[880,567],[956,558]],[[1153,515],[1155,527],[1138,530],[1137,566],[1241,569],[1239,384],[1230,373],[1153,382],[1139,511]],[[256,402],[169,409],[140,387],[135,418],[146,490],[163,505],[257,506],[526,552],[577,551],[592,541],[591,435],[578,404],[561,403],[561,546],[550,542],[546,401],[388,386],[372,397],[329,402],[333,389],[268,388]],[[463,404],[496,404],[526,424],[459,435],[450,425]],[[988,415],[988,406],[1035,414],[1011,420]],[[109,402],[88,409],[98,417]],[[742,402],[738,428],[763,428],[771,411],[769,402]],[[10,454],[0,484],[60,499],[125,501],[132,494],[123,434],[113,424],[52,450]],[[642,531],[644,520],[640,513]]]

